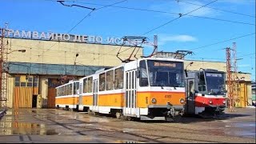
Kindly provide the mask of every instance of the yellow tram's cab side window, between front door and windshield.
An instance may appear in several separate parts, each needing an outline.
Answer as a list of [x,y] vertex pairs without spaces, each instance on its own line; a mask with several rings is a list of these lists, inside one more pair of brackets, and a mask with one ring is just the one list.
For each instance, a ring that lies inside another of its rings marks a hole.
[[140,81],[139,86],[149,86],[148,75],[146,71],[146,61],[139,62]]

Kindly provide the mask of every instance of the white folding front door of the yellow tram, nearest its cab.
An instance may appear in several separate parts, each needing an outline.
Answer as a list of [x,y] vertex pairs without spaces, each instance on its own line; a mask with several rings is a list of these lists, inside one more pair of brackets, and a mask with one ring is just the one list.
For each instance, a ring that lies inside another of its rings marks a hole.
[[136,70],[126,72],[126,94],[124,108],[125,115],[136,115],[136,98],[137,98],[137,86],[136,86]]

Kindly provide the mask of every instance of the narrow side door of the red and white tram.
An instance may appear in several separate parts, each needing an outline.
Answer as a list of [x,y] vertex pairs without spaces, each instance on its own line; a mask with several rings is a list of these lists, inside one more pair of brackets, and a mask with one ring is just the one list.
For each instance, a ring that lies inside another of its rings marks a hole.
[[187,85],[186,86],[186,97],[187,97],[186,112],[188,114],[194,114],[194,112],[195,112],[194,78],[187,79],[186,85]]

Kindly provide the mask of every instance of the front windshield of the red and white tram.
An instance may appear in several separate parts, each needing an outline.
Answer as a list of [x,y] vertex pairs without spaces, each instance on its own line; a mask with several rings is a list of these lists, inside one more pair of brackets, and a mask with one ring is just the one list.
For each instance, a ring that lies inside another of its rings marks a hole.
[[224,94],[224,74],[222,73],[205,73],[207,91],[210,94]]

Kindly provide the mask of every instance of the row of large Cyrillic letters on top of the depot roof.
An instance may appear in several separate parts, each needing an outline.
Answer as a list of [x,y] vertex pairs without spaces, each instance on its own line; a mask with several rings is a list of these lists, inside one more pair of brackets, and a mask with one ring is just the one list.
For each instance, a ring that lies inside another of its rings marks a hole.
[[113,44],[113,45],[122,44],[122,38],[107,37],[106,39],[103,39],[101,36],[58,34],[53,32],[38,32],[38,31],[9,29],[9,30],[5,30],[4,35],[5,37],[9,37],[9,38],[26,38],[26,39],[40,39],[40,40],[63,41],[63,42],[100,43],[100,44]]

